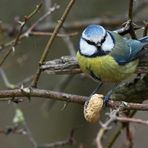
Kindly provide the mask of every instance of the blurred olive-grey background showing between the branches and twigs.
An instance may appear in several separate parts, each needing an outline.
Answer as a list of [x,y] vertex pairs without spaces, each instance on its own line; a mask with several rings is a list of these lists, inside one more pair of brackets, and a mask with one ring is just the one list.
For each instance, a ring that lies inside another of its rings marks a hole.
[[[8,32],[0,31],[1,44],[7,43],[16,37],[16,34],[11,32],[13,26],[18,25],[15,20],[23,20],[23,16],[32,12],[39,2],[40,1],[38,0],[0,0],[0,25],[7,24],[10,26],[10,30],[8,30]],[[79,47],[79,37],[85,25],[76,28],[70,27],[74,22],[82,21],[85,23],[89,21],[91,22],[96,18],[104,18],[107,20],[119,17],[121,18],[121,24],[105,26],[111,30],[120,28],[122,23],[124,23],[124,21],[122,22],[122,19],[125,20],[127,16],[128,2],[128,0],[76,1],[66,19],[64,31],[70,33],[78,32],[78,34],[70,38],[68,37],[68,39],[57,37],[49,51],[47,59],[53,60],[65,55],[75,55]],[[137,6],[139,2],[142,2],[142,0],[136,0],[135,6]],[[29,23],[27,23],[27,27],[45,14],[49,10],[49,7],[53,6],[55,3],[60,5],[60,9],[56,10],[52,15],[50,15],[50,17],[46,18],[46,20],[40,24],[41,28],[45,27],[47,30],[49,29],[51,31],[51,28],[54,27],[57,19],[61,17],[63,10],[68,3],[67,0],[43,0],[43,7],[40,12],[37,13]],[[147,17],[147,9],[148,6],[144,7],[142,11],[137,14],[136,20],[141,20],[141,18]],[[69,26],[66,26],[66,23],[69,24]],[[48,38],[49,37],[45,36],[31,36],[22,40],[21,44],[16,46],[15,52],[12,53],[2,65],[2,69],[10,83],[18,84],[36,72],[38,61]],[[71,46],[67,44],[67,40],[70,42]],[[7,49],[0,52],[1,59],[6,54],[6,51]],[[89,96],[95,89],[96,85],[96,82],[92,81],[92,79],[82,75],[47,75],[43,73],[39,80],[38,87]],[[7,89],[2,76],[0,77],[0,89]],[[105,93],[107,89],[109,89],[108,84],[105,85],[100,92]],[[94,141],[100,126],[98,123],[90,124],[85,121],[83,117],[83,107],[69,103],[66,108],[63,109],[65,105],[64,102],[56,102],[54,105],[52,104],[52,101],[47,101],[43,98],[32,98],[30,102],[26,100],[18,105],[24,113],[25,121],[31,130],[35,141],[38,144],[44,144],[65,140],[69,136],[70,131],[73,128],[76,128],[74,136],[76,139],[76,145],[74,147],[95,147]],[[14,114],[15,107],[13,103],[0,102],[0,129],[5,129],[8,126],[13,125],[12,120]],[[136,116],[146,119],[147,113],[139,112]],[[134,130],[135,128],[136,131]],[[135,131],[134,148],[147,147],[148,127],[134,125],[133,130]],[[104,139],[104,143],[111,138],[114,131],[115,129],[112,129],[108,132],[108,135]],[[121,147],[121,143],[124,142],[125,133],[119,137],[113,147],[119,148]],[[19,134],[10,134],[8,136],[0,134],[0,146],[2,148],[32,148],[28,137]],[[69,147],[72,146],[64,146],[64,148]]]

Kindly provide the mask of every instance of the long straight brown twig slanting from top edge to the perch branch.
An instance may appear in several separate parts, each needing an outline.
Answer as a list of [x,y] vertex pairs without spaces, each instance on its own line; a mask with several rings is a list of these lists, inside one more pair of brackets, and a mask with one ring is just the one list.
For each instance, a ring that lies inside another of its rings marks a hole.
[[56,25],[56,27],[55,27],[55,29],[53,31],[52,36],[49,38],[49,40],[48,40],[48,42],[47,42],[47,44],[45,46],[45,49],[44,49],[44,51],[42,53],[42,56],[40,58],[40,61],[39,61],[39,67],[37,69],[37,72],[36,72],[35,77],[34,77],[33,82],[32,82],[32,87],[36,87],[37,86],[37,83],[38,83],[38,80],[39,80],[39,77],[40,77],[40,74],[41,74],[40,66],[46,60],[46,57],[47,57],[48,52],[49,52],[49,49],[50,49],[50,47],[51,47],[51,45],[52,45],[52,43],[53,43],[53,41],[54,41],[58,31],[62,27],[62,25],[63,25],[67,15],[68,15],[70,9],[72,8],[74,2],[75,2],[75,0],[70,0],[70,2],[68,3],[68,5],[67,5],[67,7],[66,7],[66,9],[65,9],[65,11],[64,11],[64,13],[62,15],[62,17],[58,20],[58,23],[57,23],[57,25]]

